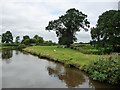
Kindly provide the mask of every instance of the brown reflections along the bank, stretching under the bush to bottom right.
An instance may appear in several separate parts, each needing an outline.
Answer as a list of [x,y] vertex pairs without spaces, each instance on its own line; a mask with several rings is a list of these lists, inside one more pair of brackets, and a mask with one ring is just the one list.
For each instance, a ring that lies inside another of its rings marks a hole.
[[51,77],[57,77],[66,84],[66,87],[73,88],[116,88],[118,86],[100,83],[89,79],[85,73],[75,68],[64,67],[61,64],[55,63],[54,66],[47,67]]

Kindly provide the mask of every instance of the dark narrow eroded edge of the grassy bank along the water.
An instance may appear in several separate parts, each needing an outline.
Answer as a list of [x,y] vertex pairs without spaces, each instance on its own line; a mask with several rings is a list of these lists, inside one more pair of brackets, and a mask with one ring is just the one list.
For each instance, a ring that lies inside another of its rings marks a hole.
[[56,62],[56,63],[61,63],[63,64],[64,66],[66,67],[75,67],[76,69],[79,69],[81,71],[84,71],[84,67],[85,65],[80,65],[80,64],[76,64],[76,63],[68,63],[68,62],[64,62],[62,60],[59,60],[59,59],[55,59],[53,57],[50,57],[48,56],[47,54],[46,55],[42,55],[41,53],[36,53],[34,51],[31,51],[31,50],[26,50],[26,49],[22,49],[22,51],[26,52],[26,53],[29,53],[31,55],[34,55],[34,56],[38,56],[39,58],[42,58],[42,59],[47,59],[49,61],[53,61],[53,62]]

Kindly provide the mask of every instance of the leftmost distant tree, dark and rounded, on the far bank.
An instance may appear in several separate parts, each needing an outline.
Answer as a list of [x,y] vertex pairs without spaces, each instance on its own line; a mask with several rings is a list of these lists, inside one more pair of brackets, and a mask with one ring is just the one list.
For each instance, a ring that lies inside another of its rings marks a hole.
[[6,31],[6,33],[2,34],[2,43],[12,43],[13,42],[13,36],[10,31]]

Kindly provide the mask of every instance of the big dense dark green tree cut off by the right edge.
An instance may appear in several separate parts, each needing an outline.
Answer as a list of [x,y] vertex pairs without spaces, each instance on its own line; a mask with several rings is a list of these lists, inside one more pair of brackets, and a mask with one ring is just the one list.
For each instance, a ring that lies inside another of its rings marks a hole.
[[[120,10],[109,10],[99,16],[96,27],[91,28],[91,37],[97,47],[111,47],[120,52]],[[96,42],[96,43],[95,43]]]

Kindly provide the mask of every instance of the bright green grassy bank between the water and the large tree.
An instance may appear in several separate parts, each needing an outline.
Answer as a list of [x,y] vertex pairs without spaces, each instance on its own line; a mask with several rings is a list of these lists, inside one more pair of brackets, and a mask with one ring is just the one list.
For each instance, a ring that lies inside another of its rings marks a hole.
[[79,69],[84,65],[88,65],[91,61],[101,57],[100,55],[83,54],[76,50],[57,48],[56,46],[31,46],[23,50],[39,57],[48,58],[65,65],[75,66]]

